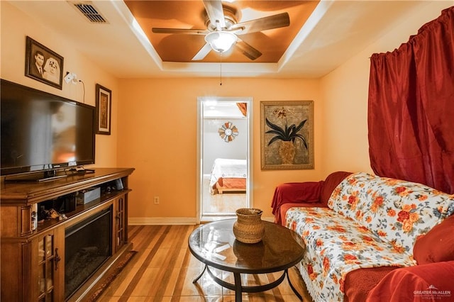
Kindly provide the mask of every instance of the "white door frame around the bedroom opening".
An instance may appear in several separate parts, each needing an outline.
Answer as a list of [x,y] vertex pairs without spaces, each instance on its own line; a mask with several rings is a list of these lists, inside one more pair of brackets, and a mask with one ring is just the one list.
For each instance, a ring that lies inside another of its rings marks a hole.
[[253,97],[252,96],[243,96],[243,97],[222,97],[222,96],[199,96],[197,97],[197,169],[196,169],[196,224],[201,222],[203,215],[202,211],[202,190],[203,190],[203,121],[204,121],[204,110],[203,105],[206,101],[224,101],[224,102],[241,102],[248,104],[248,113],[246,114],[246,123],[248,130],[246,134],[248,135],[247,141],[247,178],[246,178],[246,205],[247,207],[252,206],[253,201]]

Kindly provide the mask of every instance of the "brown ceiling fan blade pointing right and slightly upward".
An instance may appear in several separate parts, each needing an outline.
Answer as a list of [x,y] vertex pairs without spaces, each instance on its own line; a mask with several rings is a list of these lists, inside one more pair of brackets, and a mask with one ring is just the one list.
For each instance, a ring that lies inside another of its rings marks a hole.
[[243,28],[238,35],[245,33],[256,33],[258,31],[281,28],[290,25],[290,17],[288,13],[278,13],[277,15],[258,18],[250,21],[236,23],[231,27],[231,30]]

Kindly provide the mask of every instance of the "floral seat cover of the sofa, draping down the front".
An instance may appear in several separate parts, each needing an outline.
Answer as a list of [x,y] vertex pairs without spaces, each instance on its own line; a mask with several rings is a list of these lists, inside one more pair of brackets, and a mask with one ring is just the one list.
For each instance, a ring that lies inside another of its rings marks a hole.
[[363,267],[406,267],[414,259],[330,208],[290,208],[287,228],[306,243],[301,276],[314,301],[343,301],[345,275]]

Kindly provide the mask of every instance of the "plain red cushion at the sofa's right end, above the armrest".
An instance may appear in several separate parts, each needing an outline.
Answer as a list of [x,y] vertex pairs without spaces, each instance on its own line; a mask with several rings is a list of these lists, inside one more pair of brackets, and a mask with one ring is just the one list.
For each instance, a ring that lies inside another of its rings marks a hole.
[[418,264],[454,261],[454,215],[419,237],[413,247]]

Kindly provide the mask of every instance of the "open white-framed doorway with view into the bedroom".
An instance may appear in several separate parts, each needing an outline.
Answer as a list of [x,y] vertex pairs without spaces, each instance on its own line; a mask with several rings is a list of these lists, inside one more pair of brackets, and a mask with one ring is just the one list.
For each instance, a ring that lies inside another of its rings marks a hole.
[[197,223],[250,207],[252,98],[197,99]]

